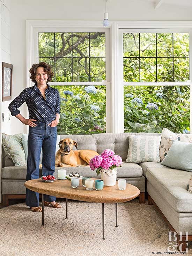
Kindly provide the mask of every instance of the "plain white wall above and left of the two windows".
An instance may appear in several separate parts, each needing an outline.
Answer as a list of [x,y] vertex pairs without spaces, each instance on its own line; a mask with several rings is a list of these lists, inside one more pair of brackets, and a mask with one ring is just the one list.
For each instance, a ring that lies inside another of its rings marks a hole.
[[[5,1],[5,0],[4,0]],[[145,0],[108,0],[110,20],[192,20],[192,7],[163,3],[154,9],[154,2]],[[26,85],[26,20],[103,20],[104,0],[11,0],[11,61],[15,98]],[[89,24],[88,24],[89,25]],[[28,118],[26,104],[20,108]],[[15,117],[11,118],[11,133],[27,132]]]

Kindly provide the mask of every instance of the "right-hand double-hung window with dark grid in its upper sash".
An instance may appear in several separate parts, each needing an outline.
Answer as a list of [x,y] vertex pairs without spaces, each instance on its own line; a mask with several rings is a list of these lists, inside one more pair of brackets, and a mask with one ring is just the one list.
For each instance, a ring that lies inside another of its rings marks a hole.
[[119,29],[124,132],[190,133],[190,37],[186,29]]

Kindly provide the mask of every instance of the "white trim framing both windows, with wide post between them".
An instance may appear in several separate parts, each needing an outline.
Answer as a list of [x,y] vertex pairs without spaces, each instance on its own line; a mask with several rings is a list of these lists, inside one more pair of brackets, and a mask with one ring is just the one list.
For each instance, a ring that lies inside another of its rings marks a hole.
[[[29,80],[29,69],[33,63],[38,61],[37,52],[35,47],[37,47],[37,40],[35,40],[36,29],[69,29],[72,31],[74,29],[90,29],[98,31],[98,29],[103,29],[102,21],[61,21],[61,20],[27,20],[26,21],[26,36],[27,36],[27,87],[31,86]],[[121,133],[124,132],[124,85],[122,75],[122,65],[123,65],[123,54],[122,53],[122,44],[120,41],[120,29],[168,29],[170,32],[173,30],[177,32],[187,31],[190,33],[190,80],[192,79],[192,21],[110,21],[110,26],[105,28],[106,31],[109,31],[110,45],[109,45],[109,61],[110,63],[106,64],[106,75],[107,70],[108,74],[106,77],[106,132],[112,133]],[[79,30],[79,31],[80,31]],[[44,30],[45,31],[45,30]],[[122,32],[122,30],[121,30]],[[36,45],[36,46],[35,46]],[[35,54],[36,52],[36,54]],[[120,53],[121,52],[121,53]],[[107,53],[106,53],[107,54]],[[66,82],[65,82],[66,83]],[[83,82],[83,85],[90,85],[94,82]],[[57,83],[58,84],[58,83]],[[75,85],[75,83],[72,83]],[[78,85],[80,83],[78,82]],[[94,83],[95,85],[97,83]],[[102,85],[103,83],[98,83]],[[166,85],[170,84],[166,83]],[[179,85],[183,85],[183,83]],[[70,83],[67,83],[70,85]],[[131,83],[133,85],[133,83]],[[136,85],[136,83],[134,83]],[[139,83],[139,85],[143,85]],[[151,85],[150,83],[145,83],[145,85]],[[155,85],[161,85],[161,83],[155,83]],[[177,83],[178,85],[178,83]],[[192,83],[187,82],[187,85],[190,85],[190,130],[192,133]]]

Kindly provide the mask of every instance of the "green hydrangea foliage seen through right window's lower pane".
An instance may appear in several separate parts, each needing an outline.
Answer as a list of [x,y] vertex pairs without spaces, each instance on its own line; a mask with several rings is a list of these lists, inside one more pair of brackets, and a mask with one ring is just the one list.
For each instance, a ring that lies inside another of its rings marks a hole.
[[[135,97],[143,104],[134,102]],[[158,109],[148,109],[149,102]],[[173,132],[190,131],[190,87],[125,86],[125,132],[161,132],[163,127]]]

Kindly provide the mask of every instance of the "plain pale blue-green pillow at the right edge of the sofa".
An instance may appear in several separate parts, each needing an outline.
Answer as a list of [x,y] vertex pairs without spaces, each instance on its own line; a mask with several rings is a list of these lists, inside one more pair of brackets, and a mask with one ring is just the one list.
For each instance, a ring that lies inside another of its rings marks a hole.
[[192,171],[192,143],[173,140],[161,164],[173,169]]

